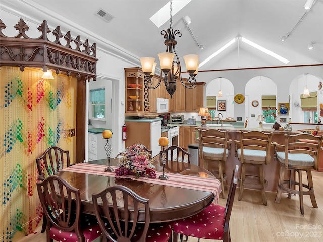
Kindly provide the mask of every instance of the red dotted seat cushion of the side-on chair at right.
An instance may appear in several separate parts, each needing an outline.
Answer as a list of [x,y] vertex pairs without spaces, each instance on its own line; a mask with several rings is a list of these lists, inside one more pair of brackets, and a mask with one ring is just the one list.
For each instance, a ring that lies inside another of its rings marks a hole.
[[174,232],[204,239],[223,239],[225,207],[210,204],[194,216],[174,221]]

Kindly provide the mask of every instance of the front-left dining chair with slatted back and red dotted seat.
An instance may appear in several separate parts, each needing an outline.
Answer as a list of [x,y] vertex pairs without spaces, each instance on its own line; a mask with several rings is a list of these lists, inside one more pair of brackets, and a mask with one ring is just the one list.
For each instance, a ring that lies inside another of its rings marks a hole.
[[94,216],[82,215],[80,191],[66,180],[51,175],[37,182],[46,220],[47,242],[90,242],[102,233]]

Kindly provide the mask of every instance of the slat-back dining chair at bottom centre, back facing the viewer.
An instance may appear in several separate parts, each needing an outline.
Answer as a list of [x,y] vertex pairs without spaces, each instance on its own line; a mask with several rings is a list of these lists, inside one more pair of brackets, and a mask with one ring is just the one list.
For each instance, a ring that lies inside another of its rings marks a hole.
[[149,199],[115,185],[92,194],[95,214],[105,241],[166,242],[172,223],[150,223]]

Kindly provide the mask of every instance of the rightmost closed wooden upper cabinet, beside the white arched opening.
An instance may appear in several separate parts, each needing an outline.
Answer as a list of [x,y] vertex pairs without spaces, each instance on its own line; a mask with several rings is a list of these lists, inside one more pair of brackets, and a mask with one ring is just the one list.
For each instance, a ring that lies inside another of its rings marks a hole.
[[[199,112],[204,107],[205,82],[197,82],[195,88],[185,88],[185,111]],[[191,85],[186,83],[187,86]]]

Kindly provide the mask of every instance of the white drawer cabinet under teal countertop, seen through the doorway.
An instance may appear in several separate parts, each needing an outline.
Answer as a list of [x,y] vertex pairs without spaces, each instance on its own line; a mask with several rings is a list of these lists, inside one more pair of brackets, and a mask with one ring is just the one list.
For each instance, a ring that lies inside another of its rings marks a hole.
[[106,152],[104,149],[105,144],[106,144],[106,139],[103,139],[102,132],[95,133],[95,134],[88,132],[88,159],[89,160],[106,159]]

